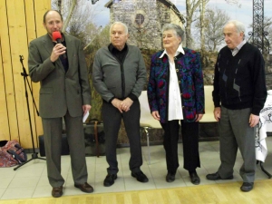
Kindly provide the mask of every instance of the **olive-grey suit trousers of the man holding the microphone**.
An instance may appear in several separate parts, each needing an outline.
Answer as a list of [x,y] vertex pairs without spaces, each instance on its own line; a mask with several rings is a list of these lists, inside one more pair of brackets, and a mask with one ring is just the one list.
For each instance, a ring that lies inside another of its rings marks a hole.
[[[63,118],[42,118],[42,121],[48,180],[52,187],[63,186],[64,179],[61,174]],[[64,121],[73,181],[76,184],[83,184],[88,179],[84,151],[83,117],[71,117],[67,112],[64,115]]]

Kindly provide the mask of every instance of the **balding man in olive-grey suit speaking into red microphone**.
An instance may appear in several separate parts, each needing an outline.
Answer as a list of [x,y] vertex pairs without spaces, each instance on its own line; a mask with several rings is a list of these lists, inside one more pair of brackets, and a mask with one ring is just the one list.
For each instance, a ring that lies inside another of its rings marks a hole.
[[91,89],[88,81],[83,46],[79,39],[62,34],[62,44],[53,41],[52,34],[61,31],[63,17],[58,11],[44,14],[47,34],[29,44],[29,75],[40,82],[40,115],[44,128],[47,175],[53,187],[52,196],[63,195],[61,146],[64,118],[69,143],[74,187],[92,192],[84,153],[83,115],[91,109]]

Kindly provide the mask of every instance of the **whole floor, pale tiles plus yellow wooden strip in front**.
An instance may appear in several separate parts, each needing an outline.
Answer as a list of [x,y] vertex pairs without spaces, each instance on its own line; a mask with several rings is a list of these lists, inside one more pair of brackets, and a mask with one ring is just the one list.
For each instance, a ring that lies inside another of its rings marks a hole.
[[[267,147],[272,147],[272,137],[267,137]],[[141,170],[149,178],[142,184],[131,178],[129,169],[130,149],[117,149],[119,161],[118,180],[112,187],[104,187],[103,180],[108,167],[105,158],[86,157],[88,166],[88,182],[94,192],[86,194],[73,187],[73,173],[69,156],[62,157],[62,175],[65,178],[63,197],[53,199],[52,187],[47,178],[46,162],[34,160],[20,170],[0,168],[0,204],[202,204],[202,203],[271,203],[272,179],[257,165],[255,187],[250,192],[242,192],[239,188],[242,178],[239,169],[243,159],[238,152],[233,168],[233,180],[207,180],[206,175],[219,168],[219,141],[199,142],[201,168],[198,169],[201,183],[191,184],[189,173],[179,168],[176,180],[165,181],[166,162],[163,146],[151,147],[151,164],[147,147],[142,147],[143,164]],[[179,162],[183,163],[182,145],[179,144]],[[265,169],[272,172],[272,153],[268,152]]]

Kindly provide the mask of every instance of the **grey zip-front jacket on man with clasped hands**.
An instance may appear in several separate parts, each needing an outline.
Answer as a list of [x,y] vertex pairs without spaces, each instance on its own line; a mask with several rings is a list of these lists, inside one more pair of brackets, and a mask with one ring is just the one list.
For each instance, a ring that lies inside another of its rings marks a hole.
[[99,49],[92,65],[92,83],[106,102],[114,97],[122,100],[131,94],[138,98],[146,83],[146,67],[140,49],[128,44],[123,63],[107,46]]

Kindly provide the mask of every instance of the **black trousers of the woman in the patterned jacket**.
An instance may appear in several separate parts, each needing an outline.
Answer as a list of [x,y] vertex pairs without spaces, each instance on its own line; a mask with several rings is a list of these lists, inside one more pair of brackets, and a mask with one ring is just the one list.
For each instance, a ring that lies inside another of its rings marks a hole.
[[[178,120],[161,123],[164,130],[163,146],[166,153],[167,170],[176,173],[179,168],[178,141],[180,125]],[[181,121],[183,157],[185,170],[196,170],[199,160],[199,122]]]

